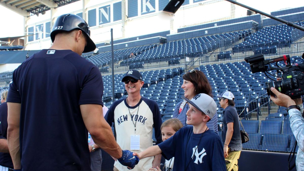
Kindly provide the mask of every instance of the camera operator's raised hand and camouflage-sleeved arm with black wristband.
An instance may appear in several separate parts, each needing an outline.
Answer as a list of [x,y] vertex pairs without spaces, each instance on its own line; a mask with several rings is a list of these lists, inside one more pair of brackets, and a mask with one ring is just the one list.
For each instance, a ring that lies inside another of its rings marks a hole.
[[271,95],[270,99],[279,106],[287,107],[286,110],[289,114],[290,127],[299,145],[295,166],[298,171],[304,170],[304,119],[302,117],[302,99],[292,100],[289,96],[278,92],[278,90],[273,87],[271,87],[270,90],[275,94],[275,96]]

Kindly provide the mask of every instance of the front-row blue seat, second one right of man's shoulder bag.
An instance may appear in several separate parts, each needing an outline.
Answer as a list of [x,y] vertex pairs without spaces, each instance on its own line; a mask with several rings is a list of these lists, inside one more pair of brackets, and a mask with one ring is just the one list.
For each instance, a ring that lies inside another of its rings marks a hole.
[[264,134],[263,150],[287,152],[289,149],[289,135]]

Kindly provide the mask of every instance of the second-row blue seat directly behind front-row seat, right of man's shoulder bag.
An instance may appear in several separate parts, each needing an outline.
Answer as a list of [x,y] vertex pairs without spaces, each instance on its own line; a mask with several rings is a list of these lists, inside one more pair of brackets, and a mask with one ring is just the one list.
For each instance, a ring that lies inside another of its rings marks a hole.
[[261,134],[281,134],[282,121],[261,121]]

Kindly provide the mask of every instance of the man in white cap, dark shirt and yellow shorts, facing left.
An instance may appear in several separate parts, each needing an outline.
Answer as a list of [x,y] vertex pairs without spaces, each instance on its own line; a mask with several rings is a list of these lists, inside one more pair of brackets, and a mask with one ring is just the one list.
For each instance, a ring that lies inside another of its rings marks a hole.
[[219,98],[219,104],[224,109],[222,138],[227,171],[236,171],[238,170],[237,160],[240,158],[242,150],[240,118],[237,110],[233,107],[235,103],[232,92],[226,91],[216,97]]

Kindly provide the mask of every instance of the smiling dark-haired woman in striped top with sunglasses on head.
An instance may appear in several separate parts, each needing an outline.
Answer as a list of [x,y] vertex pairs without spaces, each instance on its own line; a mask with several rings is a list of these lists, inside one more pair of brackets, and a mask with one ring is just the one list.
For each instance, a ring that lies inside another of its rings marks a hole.
[[[206,75],[199,70],[191,70],[183,75],[184,82],[181,88],[184,90],[185,98],[191,100],[194,96],[205,93],[212,97],[211,86],[208,82]],[[187,121],[187,111],[189,110],[189,105],[187,101],[183,100],[175,106],[172,118],[178,118],[183,126],[189,126],[186,124]],[[207,122],[207,127],[213,130],[216,134],[219,134],[217,127],[217,113],[212,117],[212,119]]]

